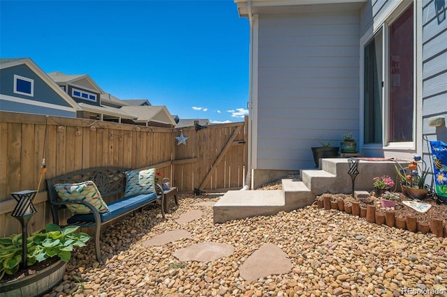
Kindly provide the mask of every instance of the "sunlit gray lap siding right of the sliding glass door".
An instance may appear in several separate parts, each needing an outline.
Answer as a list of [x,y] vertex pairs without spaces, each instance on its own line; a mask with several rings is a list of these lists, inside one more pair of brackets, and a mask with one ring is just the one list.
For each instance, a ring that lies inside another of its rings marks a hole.
[[441,1],[423,1],[423,134],[447,142],[446,124],[428,125],[432,117],[447,121],[447,6],[439,4]]

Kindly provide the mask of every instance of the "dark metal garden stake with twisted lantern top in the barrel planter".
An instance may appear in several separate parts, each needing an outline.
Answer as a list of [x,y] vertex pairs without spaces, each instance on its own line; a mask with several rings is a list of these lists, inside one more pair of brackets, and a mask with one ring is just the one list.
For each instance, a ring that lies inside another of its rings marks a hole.
[[37,213],[33,204],[33,198],[36,196],[36,190],[24,190],[21,192],[13,192],[11,195],[17,201],[13,213],[11,215],[19,220],[22,224],[22,268],[27,268],[27,238],[28,238],[28,222],[34,213]]

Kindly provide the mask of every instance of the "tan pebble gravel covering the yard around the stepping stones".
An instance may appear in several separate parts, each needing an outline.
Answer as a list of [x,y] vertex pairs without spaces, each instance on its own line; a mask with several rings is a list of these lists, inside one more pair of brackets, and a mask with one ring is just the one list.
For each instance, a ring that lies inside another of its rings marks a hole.
[[[73,254],[64,281],[47,296],[447,296],[447,238],[313,206],[213,224],[212,207],[194,204],[218,199],[184,195],[179,208],[171,204],[168,220],[149,208],[117,223],[101,237],[105,263],[95,261],[89,243]],[[203,211],[202,218],[175,222],[193,209]],[[192,236],[142,246],[174,229]],[[235,252],[205,263],[173,257],[179,248],[209,241],[233,245]],[[239,267],[265,243],[286,252],[292,270],[247,282]]]

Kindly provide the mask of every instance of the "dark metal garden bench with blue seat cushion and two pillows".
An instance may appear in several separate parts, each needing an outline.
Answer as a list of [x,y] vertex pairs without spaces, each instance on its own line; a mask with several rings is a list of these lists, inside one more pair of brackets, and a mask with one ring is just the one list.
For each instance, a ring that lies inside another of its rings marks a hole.
[[[97,167],[78,170],[47,179],[48,201],[54,224],[59,224],[59,211],[68,208],[72,216],[67,224],[94,228],[96,259],[101,261],[99,245],[101,227],[138,208],[161,201],[165,218],[164,195],[155,183],[155,169],[130,170],[119,167]],[[105,203],[103,198],[115,197]]]

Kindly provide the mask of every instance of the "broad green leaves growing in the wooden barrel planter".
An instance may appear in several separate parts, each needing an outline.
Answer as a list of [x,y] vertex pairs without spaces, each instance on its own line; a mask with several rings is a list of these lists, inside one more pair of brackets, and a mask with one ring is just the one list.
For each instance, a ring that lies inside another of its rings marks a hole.
[[[50,257],[59,257],[61,261],[71,259],[73,247],[85,246],[90,239],[83,232],[75,233],[78,226],[68,226],[61,229],[57,224],[47,224],[27,238],[27,265],[41,262]],[[3,275],[13,275],[22,263],[22,234],[12,234],[0,238],[0,280]]]

